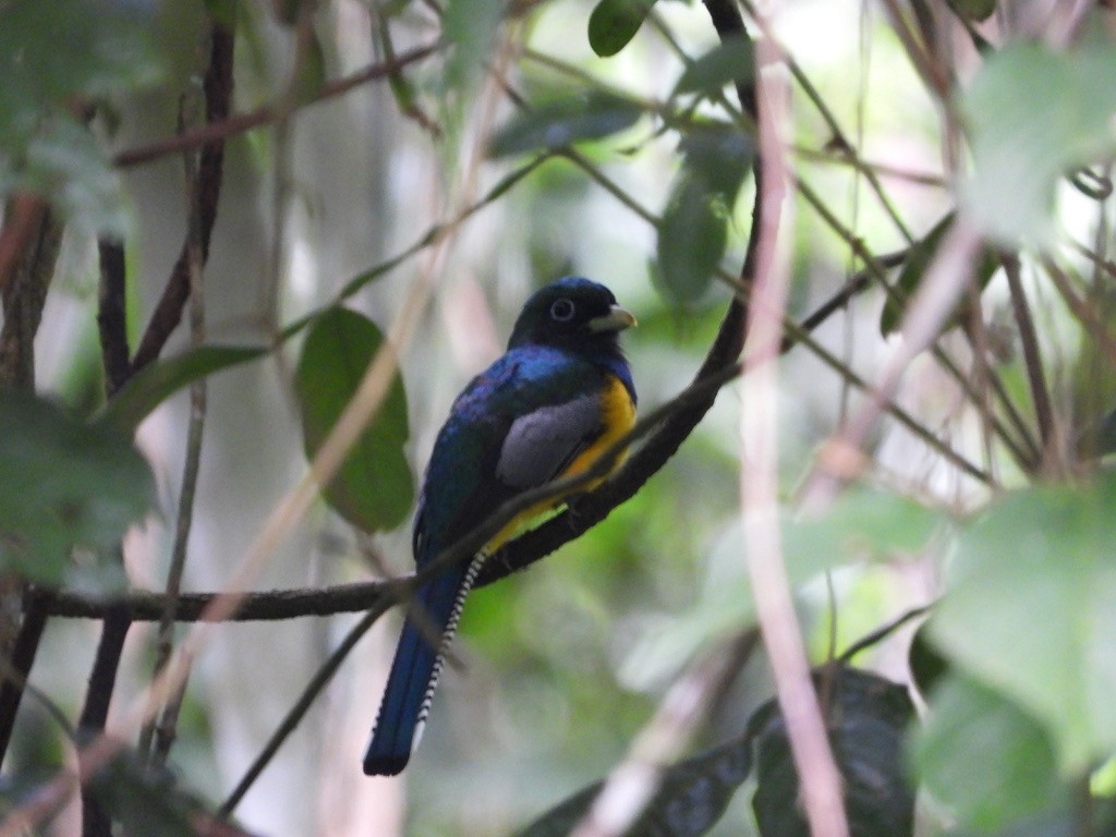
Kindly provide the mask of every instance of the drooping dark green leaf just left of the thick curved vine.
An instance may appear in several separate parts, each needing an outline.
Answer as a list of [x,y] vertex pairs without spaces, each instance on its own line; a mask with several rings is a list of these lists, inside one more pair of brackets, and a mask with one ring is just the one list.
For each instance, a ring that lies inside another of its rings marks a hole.
[[663,211],[656,256],[667,297],[691,304],[709,290],[721,264],[753,146],[734,126],[712,124],[689,134],[681,151],[683,165]]

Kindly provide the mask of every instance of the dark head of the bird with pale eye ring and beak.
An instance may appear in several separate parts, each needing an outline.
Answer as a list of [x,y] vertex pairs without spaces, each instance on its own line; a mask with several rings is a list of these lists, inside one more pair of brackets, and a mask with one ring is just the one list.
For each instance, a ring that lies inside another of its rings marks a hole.
[[573,349],[617,349],[616,336],[635,317],[604,285],[568,276],[535,292],[516,320],[508,348],[529,344]]

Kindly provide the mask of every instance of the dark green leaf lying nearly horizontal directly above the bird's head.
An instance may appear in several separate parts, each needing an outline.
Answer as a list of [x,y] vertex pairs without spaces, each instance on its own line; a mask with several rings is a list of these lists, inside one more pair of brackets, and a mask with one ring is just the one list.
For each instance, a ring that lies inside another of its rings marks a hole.
[[492,137],[489,154],[503,157],[603,140],[632,127],[642,114],[631,99],[593,90],[516,114]]

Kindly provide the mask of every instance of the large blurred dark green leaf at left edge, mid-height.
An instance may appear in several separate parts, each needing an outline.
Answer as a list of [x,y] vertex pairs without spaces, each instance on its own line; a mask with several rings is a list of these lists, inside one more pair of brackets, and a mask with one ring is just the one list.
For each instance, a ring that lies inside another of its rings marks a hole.
[[108,560],[155,509],[155,480],[131,435],[88,425],[35,396],[0,392],[0,568],[58,585]]

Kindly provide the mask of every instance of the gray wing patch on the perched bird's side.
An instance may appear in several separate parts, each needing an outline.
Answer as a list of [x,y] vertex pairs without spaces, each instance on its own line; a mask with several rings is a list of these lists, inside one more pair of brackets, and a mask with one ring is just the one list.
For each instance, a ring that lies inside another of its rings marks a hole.
[[500,449],[496,475],[514,489],[542,485],[603,432],[600,398],[596,394],[539,407],[512,422]]

